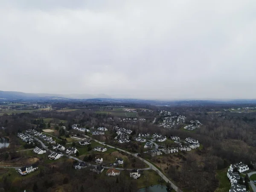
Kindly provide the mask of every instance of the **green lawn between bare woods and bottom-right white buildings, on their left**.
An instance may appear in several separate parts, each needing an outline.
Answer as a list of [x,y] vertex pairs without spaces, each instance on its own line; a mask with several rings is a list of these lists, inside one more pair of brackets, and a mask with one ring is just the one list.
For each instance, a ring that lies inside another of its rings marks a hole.
[[219,180],[219,187],[215,192],[227,192],[230,189],[230,180],[227,178],[227,169],[216,171],[216,178]]

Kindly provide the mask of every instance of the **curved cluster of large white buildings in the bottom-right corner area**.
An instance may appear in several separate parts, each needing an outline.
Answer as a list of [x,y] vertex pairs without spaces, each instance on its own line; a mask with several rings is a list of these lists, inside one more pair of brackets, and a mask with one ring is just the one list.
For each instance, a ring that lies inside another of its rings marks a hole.
[[[235,172],[237,169],[238,172]],[[231,188],[230,192],[246,192],[246,186],[237,184],[240,180],[239,172],[246,172],[249,170],[249,167],[244,163],[236,163],[234,165],[230,165],[229,169],[227,170],[227,177],[230,180]]]

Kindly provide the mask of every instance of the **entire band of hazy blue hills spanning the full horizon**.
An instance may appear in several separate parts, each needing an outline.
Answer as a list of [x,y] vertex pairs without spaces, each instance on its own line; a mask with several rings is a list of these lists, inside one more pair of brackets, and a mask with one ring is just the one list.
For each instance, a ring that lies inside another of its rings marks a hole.
[[[120,96],[120,97],[119,97]],[[121,99],[122,98],[122,99]],[[128,99],[125,96],[106,94],[50,94],[50,93],[23,93],[17,91],[0,91],[0,101],[4,100],[86,100],[89,102],[132,102],[147,103],[149,105],[165,106],[209,106],[209,105],[229,105],[229,104],[253,104],[256,99],[182,99],[182,100],[155,100],[155,99]]]

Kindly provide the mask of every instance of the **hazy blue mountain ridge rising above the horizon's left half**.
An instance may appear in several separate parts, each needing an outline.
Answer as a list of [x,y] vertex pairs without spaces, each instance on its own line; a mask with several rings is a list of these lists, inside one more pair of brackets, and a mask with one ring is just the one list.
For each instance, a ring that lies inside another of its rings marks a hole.
[[105,94],[50,94],[50,93],[23,93],[17,91],[0,91],[0,99],[94,99],[111,98]]

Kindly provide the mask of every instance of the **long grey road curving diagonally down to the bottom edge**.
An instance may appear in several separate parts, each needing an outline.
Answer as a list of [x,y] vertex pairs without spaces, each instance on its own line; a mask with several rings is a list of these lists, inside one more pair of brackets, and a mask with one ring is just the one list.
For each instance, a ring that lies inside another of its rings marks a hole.
[[[127,153],[127,154],[130,154],[130,155],[132,155],[132,156],[134,156],[134,157],[137,157],[139,160],[143,161],[143,162],[146,163],[151,169],[153,169],[155,172],[157,172],[157,174],[160,175],[160,177],[162,177],[163,180],[166,181],[166,183],[168,183],[168,182],[171,183],[171,186],[172,186],[172,188],[173,188],[175,191],[178,191],[179,188],[178,188],[174,183],[172,183],[172,181],[169,180],[165,175],[163,175],[163,173],[160,172],[160,170],[157,169],[157,167],[155,167],[153,164],[149,163],[149,162],[146,161],[145,159],[143,159],[143,158],[141,158],[141,157],[138,157],[137,154],[132,154],[132,153],[130,153],[130,152],[128,152],[128,151],[125,151],[125,150],[123,150],[123,149],[121,149],[121,148],[116,148],[116,147],[113,147],[113,146],[111,146],[111,145],[107,145],[107,144],[105,144],[105,143],[103,143],[103,142],[100,142],[100,141],[98,141],[98,140],[95,140],[95,139],[93,139],[93,138],[91,138],[91,137],[89,137],[89,136],[87,136],[87,135],[84,135],[84,136],[87,137],[87,138],[89,138],[89,139],[91,139],[91,140],[93,140],[93,141],[95,141],[95,142],[97,142],[97,143],[100,143],[100,144],[102,144],[102,145],[108,146],[108,147],[110,147],[110,148],[115,148],[115,149],[117,149],[117,150],[119,150],[119,151],[123,151],[123,152],[125,152],[125,153]],[[179,191],[182,192],[180,189],[179,189]]]

